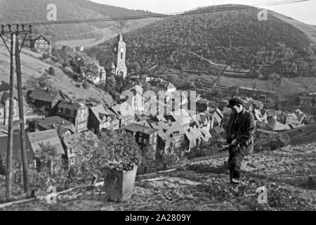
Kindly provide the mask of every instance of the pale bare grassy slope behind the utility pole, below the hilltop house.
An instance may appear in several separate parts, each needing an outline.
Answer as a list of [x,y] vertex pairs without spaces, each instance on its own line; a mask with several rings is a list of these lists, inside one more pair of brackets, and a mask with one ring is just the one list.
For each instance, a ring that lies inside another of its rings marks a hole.
[[[3,79],[6,82],[9,81],[9,60],[10,58],[7,49],[3,45],[0,45],[0,79]],[[25,85],[27,79],[30,77],[40,77],[45,70],[48,70],[50,67],[51,65],[48,63],[44,63],[32,56],[27,56],[25,53],[21,53],[22,86]],[[100,91],[93,85],[90,85],[90,89],[75,86],[76,82],[65,75],[60,68],[55,68],[55,77],[50,76],[50,78],[53,89],[65,92],[65,94],[74,100],[96,98],[103,103],[112,103],[112,97],[110,95],[106,94],[104,91]]]

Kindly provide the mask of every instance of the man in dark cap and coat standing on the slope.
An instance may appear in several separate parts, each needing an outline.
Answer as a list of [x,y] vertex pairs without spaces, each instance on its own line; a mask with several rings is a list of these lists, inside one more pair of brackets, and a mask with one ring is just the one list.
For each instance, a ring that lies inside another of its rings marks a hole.
[[229,150],[228,169],[230,183],[239,184],[242,160],[245,155],[254,153],[254,115],[244,109],[243,102],[237,98],[229,101],[232,109],[227,129],[227,143]]

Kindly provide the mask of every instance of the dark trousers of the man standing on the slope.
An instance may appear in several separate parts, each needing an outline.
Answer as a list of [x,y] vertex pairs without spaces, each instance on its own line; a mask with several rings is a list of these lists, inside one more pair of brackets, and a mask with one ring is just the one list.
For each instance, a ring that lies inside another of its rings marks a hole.
[[239,180],[244,155],[242,155],[240,149],[237,146],[230,148],[229,153],[228,169],[230,170],[230,181],[232,181],[232,179]]

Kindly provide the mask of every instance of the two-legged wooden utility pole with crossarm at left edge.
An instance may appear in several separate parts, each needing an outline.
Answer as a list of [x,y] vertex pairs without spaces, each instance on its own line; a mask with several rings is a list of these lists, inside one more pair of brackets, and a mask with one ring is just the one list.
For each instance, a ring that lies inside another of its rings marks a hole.
[[[14,59],[16,63],[17,71],[17,84],[18,84],[18,105],[20,115],[20,143],[21,143],[21,155],[22,155],[22,168],[23,168],[23,184],[24,191],[28,191],[28,179],[27,179],[27,150],[25,144],[25,124],[24,124],[24,108],[23,108],[23,96],[22,96],[22,78],[21,78],[21,65],[20,65],[20,51],[25,42],[27,34],[32,32],[32,27],[29,26],[29,30],[25,30],[25,26],[16,25],[16,30],[11,29],[11,25],[1,25],[0,37],[4,41],[6,48],[10,53],[10,94],[9,94],[9,118],[8,118],[8,152],[7,152],[7,165],[6,165],[6,199],[11,199],[11,186],[12,186],[12,161],[13,161],[13,102],[14,102]],[[11,35],[11,49],[8,48],[6,40],[3,35]],[[25,34],[21,48],[19,45],[19,34]]]

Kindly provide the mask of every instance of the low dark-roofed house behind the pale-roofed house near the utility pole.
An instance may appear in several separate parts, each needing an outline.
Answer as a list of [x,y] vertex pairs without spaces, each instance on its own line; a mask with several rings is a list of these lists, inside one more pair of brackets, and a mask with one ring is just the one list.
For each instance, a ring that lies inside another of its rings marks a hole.
[[76,129],[72,122],[63,119],[62,117],[53,116],[53,117],[45,117],[42,119],[35,119],[32,122],[29,122],[29,131],[47,131],[55,129],[60,139],[64,136],[74,134]]

